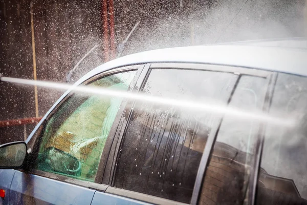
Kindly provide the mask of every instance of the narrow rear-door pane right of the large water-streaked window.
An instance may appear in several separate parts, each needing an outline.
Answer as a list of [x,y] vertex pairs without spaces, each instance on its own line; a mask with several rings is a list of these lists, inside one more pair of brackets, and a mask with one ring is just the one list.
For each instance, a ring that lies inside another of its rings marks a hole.
[[[266,80],[240,77],[229,105],[248,111],[262,110]],[[204,177],[200,204],[243,204],[258,128],[254,120],[225,115]]]

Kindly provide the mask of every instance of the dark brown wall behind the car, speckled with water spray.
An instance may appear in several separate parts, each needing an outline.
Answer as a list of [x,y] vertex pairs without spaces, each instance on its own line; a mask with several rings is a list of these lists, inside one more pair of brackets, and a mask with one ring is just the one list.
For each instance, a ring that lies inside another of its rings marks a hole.
[[[33,79],[30,3],[0,3],[0,73],[4,76]],[[298,37],[307,32],[305,0],[36,0],[33,14],[37,79],[59,82],[65,81],[95,45],[72,82],[112,59],[112,52],[116,54],[137,22],[122,55],[174,46]],[[38,88],[39,116],[61,94]],[[0,121],[28,117],[35,117],[34,88],[1,82]],[[33,128],[2,126],[0,144],[23,140]]]

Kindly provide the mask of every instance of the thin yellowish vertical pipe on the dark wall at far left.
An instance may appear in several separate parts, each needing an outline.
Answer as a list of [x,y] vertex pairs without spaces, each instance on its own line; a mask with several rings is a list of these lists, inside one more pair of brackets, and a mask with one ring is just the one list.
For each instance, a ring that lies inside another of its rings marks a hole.
[[[31,32],[32,32],[32,53],[33,53],[33,76],[36,80],[36,57],[35,57],[35,41],[34,41],[34,22],[33,22],[33,3],[30,2],[30,14],[31,14]],[[35,95],[35,116],[38,117],[38,97],[37,97],[37,86],[34,86]]]

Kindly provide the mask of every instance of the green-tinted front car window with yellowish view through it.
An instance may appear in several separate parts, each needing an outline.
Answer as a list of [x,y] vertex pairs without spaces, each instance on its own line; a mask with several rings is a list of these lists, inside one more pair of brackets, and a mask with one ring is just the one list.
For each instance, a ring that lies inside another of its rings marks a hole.
[[[98,79],[91,86],[127,90],[135,71]],[[122,98],[74,94],[42,132],[36,169],[94,181],[105,140]]]

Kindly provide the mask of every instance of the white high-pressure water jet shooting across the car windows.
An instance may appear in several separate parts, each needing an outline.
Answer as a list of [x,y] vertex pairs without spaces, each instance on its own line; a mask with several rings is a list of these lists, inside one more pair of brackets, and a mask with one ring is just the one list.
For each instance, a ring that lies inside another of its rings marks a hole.
[[150,96],[144,93],[134,93],[134,92],[120,91],[120,90],[107,89],[107,88],[98,88],[86,85],[76,86],[76,85],[63,84],[63,83],[52,83],[49,81],[40,81],[40,80],[35,81],[29,79],[20,79],[20,78],[3,77],[3,76],[0,77],[0,80],[15,84],[32,85],[32,86],[36,85],[39,87],[64,90],[64,91],[69,90],[90,96],[99,95],[99,96],[126,98],[140,102],[153,103],[160,106],[173,106],[189,111],[194,111],[197,113],[206,112],[215,115],[228,115],[232,116],[234,119],[255,120],[262,123],[265,122],[266,124],[272,126],[282,126],[291,129],[295,128],[295,126],[297,125],[295,119],[291,118],[285,119],[281,117],[276,117],[269,115],[268,113],[263,111],[243,110],[236,107],[231,107],[229,105],[221,104],[216,101],[212,101],[211,99],[207,99],[204,101],[173,99],[173,98],[165,98],[158,96]]

